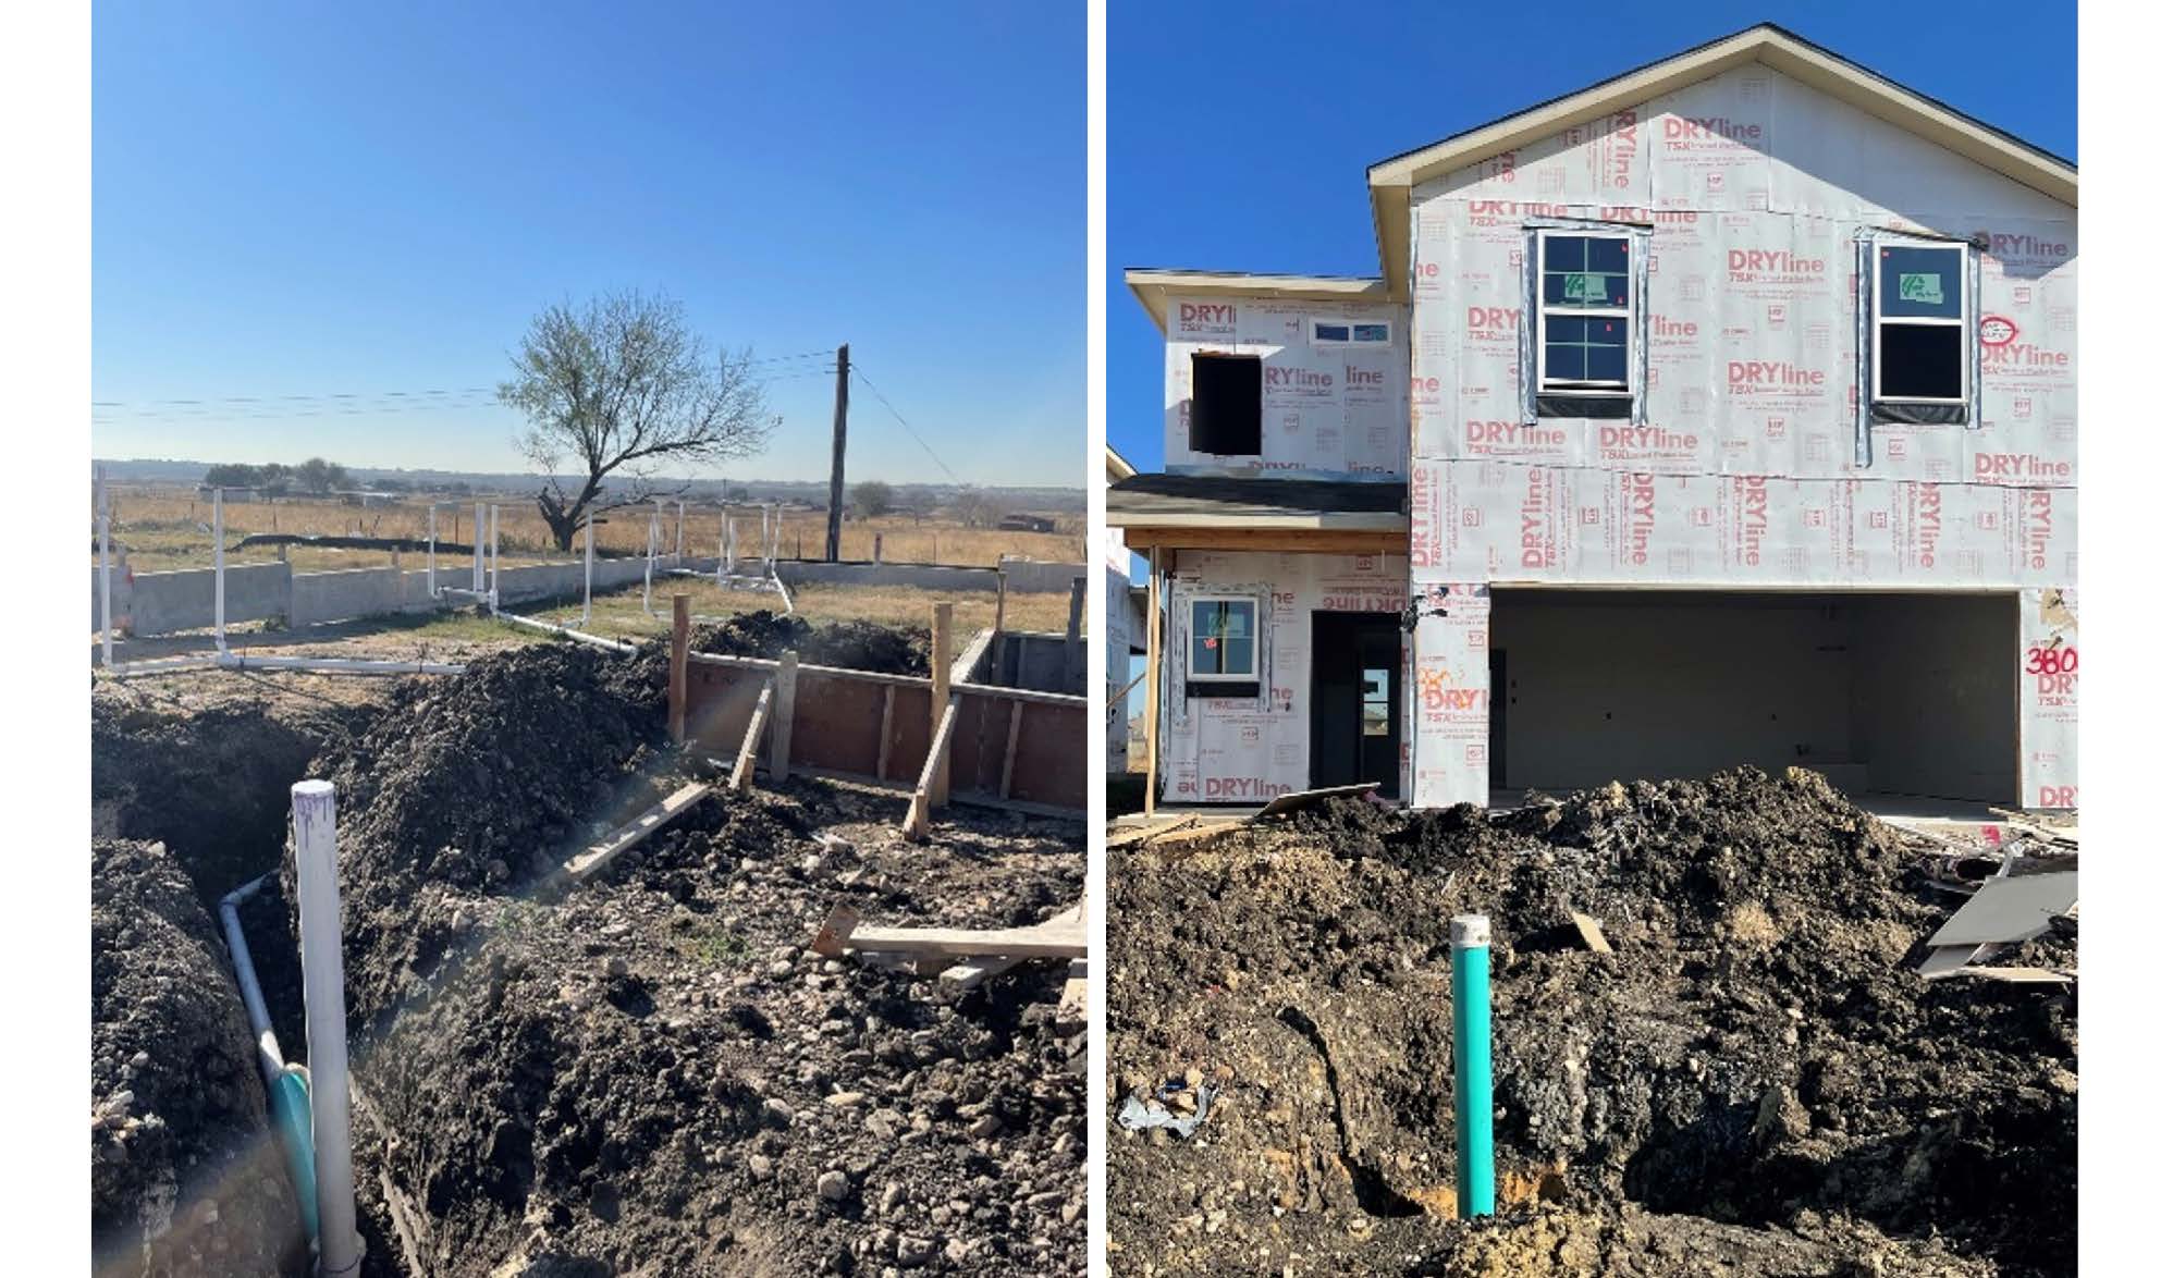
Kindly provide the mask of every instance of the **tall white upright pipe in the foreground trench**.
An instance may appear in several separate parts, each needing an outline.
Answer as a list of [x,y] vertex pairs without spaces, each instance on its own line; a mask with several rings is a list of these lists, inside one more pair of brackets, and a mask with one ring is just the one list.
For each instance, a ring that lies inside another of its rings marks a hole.
[[348,993],[339,956],[339,837],[330,780],[293,785],[293,872],[302,915],[302,1011],[309,1026],[309,1119],[317,1152],[317,1274],[363,1267],[354,1232],[348,1130]]

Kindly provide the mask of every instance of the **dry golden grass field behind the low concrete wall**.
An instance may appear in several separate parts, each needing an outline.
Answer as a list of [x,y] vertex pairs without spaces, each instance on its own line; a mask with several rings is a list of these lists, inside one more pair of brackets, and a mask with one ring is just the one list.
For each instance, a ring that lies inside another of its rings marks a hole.
[[[491,498],[500,504],[498,539],[506,559],[556,556],[550,530],[537,515],[535,502],[524,496]],[[437,535],[441,541],[467,543],[474,537],[474,502],[439,509]],[[1039,511],[1050,513],[1050,511]],[[756,552],[763,517],[756,506],[734,506],[732,519],[739,532],[743,556]],[[993,567],[997,556],[1013,554],[1026,559],[1078,563],[1084,554],[1084,515],[1078,511],[1056,515],[1063,532],[1000,532],[993,528],[965,528],[947,513],[915,522],[913,515],[882,515],[878,519],[845,517],[839,535],[841,559],[874,559],[876,537],[882,537],[882,559],[887,563],[956,563],[969,567]],[[678,504],[667,502],[661,548],[669,552],[678,543]],[[784,511],[784,528],[778,552],[784,559],[821,559],[826,515],[821,511]],[[424,537],[428,532],[428,502],[417,498],[398,506],[350,506],[337,498],[282,498],[278,502],[230,502],[226,506],[228,563],[269,563],[278,559],[274,548],[250,548],[235,552],[235,541],[252,532],[296,532],[315,537]],[[717,504],[687,506],[687,554],[717,554],[721,537],[721,511]],[[648,511],[615,511],[595,526],[595,548],[639,554],[648,546]],[[113,491],[113,541],[126,546],[128,565],[141,572],[176,567],[211,567],[211,502],[187,487],[115,487]],[[576,541],[578,552],[578,541]],[[98,556],[96,511],[91,524],[91,559]],[[374,567],[389,563],[380,550],[315,550],[296,548],[289,561],[298,569]],[[419,559],[411,556],[409,567]],[[467,567],[465,554],[439,554],[441,569]]]

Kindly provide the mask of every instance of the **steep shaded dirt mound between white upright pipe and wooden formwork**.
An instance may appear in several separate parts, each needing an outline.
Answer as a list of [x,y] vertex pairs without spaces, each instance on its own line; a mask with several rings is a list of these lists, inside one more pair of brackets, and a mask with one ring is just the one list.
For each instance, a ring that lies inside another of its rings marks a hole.
[[[576,643],[482,656],[415,678],[330,752],[339,793],[348,1011],[356,1024],[411,993],[452,941],[448,895],[502,895],[650,802],[671,772],[654,661]],[[293,856],[285,898],[293,904]]]

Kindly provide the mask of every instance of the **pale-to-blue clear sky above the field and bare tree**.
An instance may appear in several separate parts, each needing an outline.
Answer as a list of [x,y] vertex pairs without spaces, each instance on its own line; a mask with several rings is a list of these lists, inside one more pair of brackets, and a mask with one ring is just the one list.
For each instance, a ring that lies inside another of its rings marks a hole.
[[[1002,0],[98,4],[91,400],[124,406],[93,452],[522,469],[485,396],[146,406],[493,387],[537,309],[643,287],[758,359],[850,341],[967,483],[1078,487],[1084,30]],[[811,376],[734,478],[828,474],[817,363],[765,365]],[[854,383],[847,478],[945,476]]]

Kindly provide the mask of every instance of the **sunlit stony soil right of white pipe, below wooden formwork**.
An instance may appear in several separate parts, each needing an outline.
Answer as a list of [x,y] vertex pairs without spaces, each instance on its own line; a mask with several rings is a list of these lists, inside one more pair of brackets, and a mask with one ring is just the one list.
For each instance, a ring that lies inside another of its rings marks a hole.
[[834,900],[1039,922],[1078,900],[1078,828],[958,811],[910,845],[900,813],[828,782],[724,793],[554,902],[419,900],[454,943],[361,1054],[365,1122],[395,1139],[359,1148],[435,1271],[1084,1271],[1063,965],[945,1006],[804,948]]

